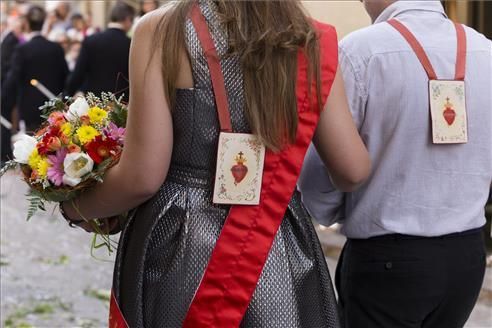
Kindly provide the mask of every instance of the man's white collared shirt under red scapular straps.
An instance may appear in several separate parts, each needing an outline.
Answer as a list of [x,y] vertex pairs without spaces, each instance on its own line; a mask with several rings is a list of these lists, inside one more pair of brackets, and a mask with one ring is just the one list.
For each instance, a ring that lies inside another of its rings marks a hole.
[[428,77],[393,27],[397,18],[423,45],[440,79],[453,79],[456,31],[438,1],[397,1],[375,24],[340,42],[350,109],[373,163],[356,192],[332,187],[314,148],[299,181],[321,223],[342,220],[349,238],[401,233],[439,236],[478,228],[492,181],[492,43],[466,27],[469,141],[434,145]]

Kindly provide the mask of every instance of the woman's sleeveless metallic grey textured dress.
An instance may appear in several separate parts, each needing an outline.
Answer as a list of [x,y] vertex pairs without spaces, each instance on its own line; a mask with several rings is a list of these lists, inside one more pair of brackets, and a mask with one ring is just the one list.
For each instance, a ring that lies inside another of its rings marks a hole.
[[[238,59],[212,1],[200,1],[219,55],[234,132],[250,132]],[[137,208],[120,237],[113,290],[130,327],[181,327],[229,206],[212,204],[219,122],[210,75],[190,20],[194,88],[177,91],[174,146],[165,183]],[[339,327],[325,258],[293,193],[241,327]]]

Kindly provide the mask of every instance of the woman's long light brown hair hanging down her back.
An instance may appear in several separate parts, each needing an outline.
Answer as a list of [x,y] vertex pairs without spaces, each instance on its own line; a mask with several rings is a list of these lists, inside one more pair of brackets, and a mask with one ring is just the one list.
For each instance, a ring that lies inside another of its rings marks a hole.
[[[176,98],[180,53],[185,47],[185,21],[195,0],[171,5],[157,26],[155,45],[162,47],[162,73],[171,108]],[[304,49],[309,81],[320,101],[319,43],[315,28],[298,0],[216,0],[227,28],[229,54],[239,56],[244,76],[245,111],[252,133],[271,150],[296,139],[297,56]],[[311,88],[309,88],[311,90]]]

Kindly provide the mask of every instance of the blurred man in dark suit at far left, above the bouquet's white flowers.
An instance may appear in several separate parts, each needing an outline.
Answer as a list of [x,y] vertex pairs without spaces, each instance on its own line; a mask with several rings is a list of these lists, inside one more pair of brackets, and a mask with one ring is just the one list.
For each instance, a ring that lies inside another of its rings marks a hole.
[[20,120],[24,120],[28,132],[41,124],[39,106],[46,96],[31,85],[36,79],[53,94],[63,91],[68,67],[62,47],[48,41],[41,34],[46,12],[39,6],[29,8],[26,21],[27,41],[19,45],[12,55],[12,66],[2,86],[2,113],[11,112],[17,105]]

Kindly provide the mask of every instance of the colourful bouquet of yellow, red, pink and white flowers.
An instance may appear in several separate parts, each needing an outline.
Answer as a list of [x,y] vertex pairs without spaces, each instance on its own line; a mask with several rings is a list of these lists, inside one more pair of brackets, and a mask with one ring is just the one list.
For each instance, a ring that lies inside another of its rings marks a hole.
[[111,93],[54,98],[40,107],[45,122],[34,136],[14,143],[14,159],[0,171],[20,167],[30,187],[27,219],[45,202],[77,197],[115,165],[123,149],[127,107]]

